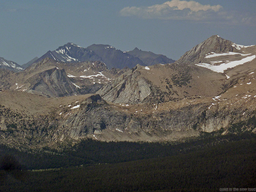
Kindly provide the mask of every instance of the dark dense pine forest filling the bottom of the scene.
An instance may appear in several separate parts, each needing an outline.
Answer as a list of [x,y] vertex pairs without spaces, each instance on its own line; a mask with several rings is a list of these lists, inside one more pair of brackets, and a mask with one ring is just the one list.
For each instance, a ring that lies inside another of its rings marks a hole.
[[[0,191],[219,191],[256,186],[256,136],[183,143],[83,140],[64,150],[1,146]],[[41,169],[41,170],[39,170]]]

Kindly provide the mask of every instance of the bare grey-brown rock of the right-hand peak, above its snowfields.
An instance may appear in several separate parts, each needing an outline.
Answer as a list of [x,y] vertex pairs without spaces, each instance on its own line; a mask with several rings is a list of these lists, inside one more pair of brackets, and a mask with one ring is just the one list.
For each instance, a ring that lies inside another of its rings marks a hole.
[[203,62],[206,54],[224,53],[224,52],[237,52],[235,47],[232,47],[233,42],[223,39],[218,35],[213,35],[202,43],[196,45],[191,50],[187,51],[176,63],[182,64],[197,64]]

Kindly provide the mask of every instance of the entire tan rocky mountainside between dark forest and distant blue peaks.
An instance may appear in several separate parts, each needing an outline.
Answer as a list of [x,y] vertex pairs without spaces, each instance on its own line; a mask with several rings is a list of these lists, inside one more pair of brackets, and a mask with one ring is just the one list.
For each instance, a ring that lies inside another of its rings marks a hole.
[[[137,65],[124,69],[115,80],[111,78],[119,73],[107,71],[100,62],[68,65],[47,59],[20,73],[2,70],[2,77],[16,75],[12,76],[14,80],[5,81],[4,86],[11,90],[0,91],[0,142],[40,148],[86,137],[173,141],[198,136],[202,131],[256,132],[256,46],[220,39],[219,46],[226,47],[219,48],[218,38],[212,36],[203,43],[206,48],[216,47],[211,52],[196,46],[194,54],[190,51],[174,64]],[[199,58],[200,62],[191,59],[186,63],[189,58]],[[85,85],[84,79],[91,85],[104,82],[105,86],[99,94],[46,98],[27,90],[13,91],[24,89],[14,84],[18,80],[25,82],[21,75],[26,83],[39,79],[40,83],[33,85],[43,87],[44,92],[74,94],[79,90],[77,86]],[[49,81],[58,82],[53,90],[45,88]],[[65,83],[74,90],[69,91]]]

